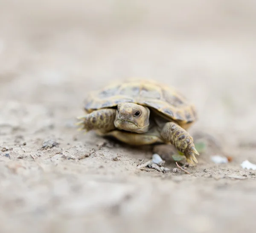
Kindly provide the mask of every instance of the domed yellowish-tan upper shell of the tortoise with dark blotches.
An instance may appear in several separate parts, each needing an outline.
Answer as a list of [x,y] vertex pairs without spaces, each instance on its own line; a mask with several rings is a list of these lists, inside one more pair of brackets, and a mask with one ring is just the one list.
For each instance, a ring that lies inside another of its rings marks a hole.
[[121,102],[133,102],[159,111],[167,119],[186,126],[197,119],[194,106],[175,88],[152,80],[127,80],[91,92],[85,100],[88,113],[111,108]]

